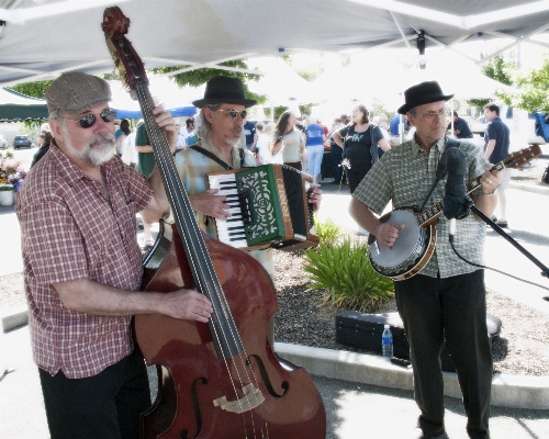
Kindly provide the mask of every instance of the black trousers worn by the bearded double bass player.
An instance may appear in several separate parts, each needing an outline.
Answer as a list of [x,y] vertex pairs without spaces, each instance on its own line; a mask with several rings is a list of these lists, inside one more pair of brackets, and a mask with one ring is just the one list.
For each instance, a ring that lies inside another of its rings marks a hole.
[[137,439],[150,407],[147,369],[136,350],[97,375],[70,380],[38,368],[52,439]]

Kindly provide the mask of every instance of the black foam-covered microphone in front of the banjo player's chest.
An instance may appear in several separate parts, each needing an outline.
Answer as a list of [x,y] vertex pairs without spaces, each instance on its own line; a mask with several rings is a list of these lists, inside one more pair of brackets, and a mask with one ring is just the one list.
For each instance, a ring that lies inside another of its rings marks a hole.
[[442,213],[450,219],[450,239],[456,234],[456,219],[462,219],[469,214],[469,206],[472,204],[471,198],[467,194],[466,175],[467,160],[466,155],[459,148],[448,148],[447,171],[445,196],[442,200]]

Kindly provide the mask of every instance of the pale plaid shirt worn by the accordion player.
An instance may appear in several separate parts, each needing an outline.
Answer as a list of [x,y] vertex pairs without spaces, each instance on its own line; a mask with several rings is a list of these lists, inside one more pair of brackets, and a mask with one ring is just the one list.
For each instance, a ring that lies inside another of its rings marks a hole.
[[[200,142],[200,146],[202,146],[202,148],[209,150],[210,153],[214,154],[220,160],[226,162],[225,158],[210,140],[201,139]],[[216,161],[191,148],[187,148],[178,153],[178,156],[180,156],[178,157],[178,162],[180,162],[178,168],[179,176],[181,177],[181,181],[183,182],[184,189],[187,190],[187,193],[189,195],[204,192],[208,189],[205,178],[206,173],[225,170],[225,168],[223,168]],[[232,166],[234,169],[239,169],[240,155],[238,154],[238,148],[236,146],[233,147],[232,158],[233,162],[227,165]],[[251,153],[247,150],[244,155],[244,166],[250,168],[257,166],[256,158]],[[194,215],[197,217],[200,229],[205,234],[215,237],[212,218],[199,212],[194,212]],[[249,255],[253,256],[254,259],[256,259],[259,263],[261,263],[271,277],[274,274],[272,249],[267,248],[265,250],[253,250],[249,251]]]

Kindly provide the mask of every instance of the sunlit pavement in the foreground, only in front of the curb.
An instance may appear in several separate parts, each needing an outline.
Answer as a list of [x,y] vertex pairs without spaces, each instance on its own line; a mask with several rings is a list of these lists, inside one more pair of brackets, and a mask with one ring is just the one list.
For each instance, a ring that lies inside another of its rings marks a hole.
[[[31,357],[29,328],[25,326],[5,334],[2,351],[11,372],[0,381],[0,437],[48,438],[38,373]],[[150,372],[155,384],[154,369]],[[414,426],[419,412],[413,392],[322,376],[313,376],[313,380],[325,406],[326,438],[417,438]],[[461,401],[445,397],[445,406],[449,437],[467,439],[467,418]],[[490,426],[493,439],[549,438],[549,410],[492,407]]]

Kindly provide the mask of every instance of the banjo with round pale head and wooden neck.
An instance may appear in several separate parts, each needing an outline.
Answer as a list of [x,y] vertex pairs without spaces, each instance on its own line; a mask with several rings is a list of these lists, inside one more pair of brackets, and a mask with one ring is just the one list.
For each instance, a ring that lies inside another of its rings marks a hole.
[[[505,168],[518,169],[540,155],[539,145],[531,145],[511,154],[496,164],[493,169],[496,171]],[[467,193],[471,193],[480,187],[481,177],[479,176],[466,184]],[[378,243],[376,236],[370,234],[368,248],[373,269],[393,281],[410,279],[421,272],[435,251],[437,244],[435,225],[442,209],[444,203],[440,200],[424,211],[419,211],[415,206],[401,207],[381,216],[382,223],[404,224],[404,228],[400,230],[399,238],[392,248]]]

